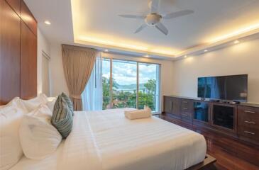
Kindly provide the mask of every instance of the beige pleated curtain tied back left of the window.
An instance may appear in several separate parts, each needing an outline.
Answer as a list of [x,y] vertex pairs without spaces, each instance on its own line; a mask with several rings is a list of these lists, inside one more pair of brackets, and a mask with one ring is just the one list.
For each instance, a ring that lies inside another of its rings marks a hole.
[[81,94],[91,76],[97,53],[92,48],[62,45],[65,79],[75,111],[82,111]]

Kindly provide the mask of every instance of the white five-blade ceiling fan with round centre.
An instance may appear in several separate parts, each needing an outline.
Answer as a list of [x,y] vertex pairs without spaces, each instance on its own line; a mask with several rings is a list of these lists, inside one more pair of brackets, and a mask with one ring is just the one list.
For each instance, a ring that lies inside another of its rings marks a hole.
[[138,28],[135,33],[139,33],[143,28],[147,26],[155,26],[158,30],[160,30],[165,35],[168,34],[167,28],[161,23],[161,19],[172,19],[177,18],[180,16],[186,16],[191,13],[194,13],[192,10],[183,10],[183,11],[177,11],[172,13],[167,13],[166,15],[162,16],[160,13],[158,13],[160,5],[160,0],[152,0],[149,3],[150,13],[146,16],[137,16],[137,15],[119,15],[123,18],[136,18],[136,19],[143,19],[145,20],[145,23],[143,23],[140,28]]

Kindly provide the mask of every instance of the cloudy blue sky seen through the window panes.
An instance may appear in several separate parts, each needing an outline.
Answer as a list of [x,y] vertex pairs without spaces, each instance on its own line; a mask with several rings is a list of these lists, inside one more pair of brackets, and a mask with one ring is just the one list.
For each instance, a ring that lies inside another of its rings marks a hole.
[[[156,79],[157,64],[139,63],[139,83],[148,82],[148,79]],[[137,81],[137,62],[113,60],[113,78],[120,85],[136,84]],[[109,79],[110,62],[104,60],[102,62],[103,77]]]

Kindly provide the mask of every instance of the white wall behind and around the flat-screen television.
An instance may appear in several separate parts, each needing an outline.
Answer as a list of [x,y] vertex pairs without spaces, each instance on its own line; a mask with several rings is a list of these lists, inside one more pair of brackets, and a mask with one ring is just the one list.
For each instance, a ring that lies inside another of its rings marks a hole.
[[259,40],[174,62],[173,93],[197,97],[197,77],[248,74],[248,102],[259,103]]

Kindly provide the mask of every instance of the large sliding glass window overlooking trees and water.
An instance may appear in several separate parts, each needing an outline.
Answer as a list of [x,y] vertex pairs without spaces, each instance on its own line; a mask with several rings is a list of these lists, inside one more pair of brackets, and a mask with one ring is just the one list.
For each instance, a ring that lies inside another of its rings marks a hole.
[[103,109],[146,105],[159,111],[159,64],[104,59],[102,67]]

